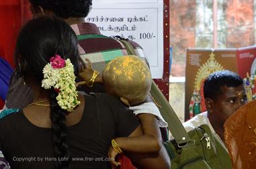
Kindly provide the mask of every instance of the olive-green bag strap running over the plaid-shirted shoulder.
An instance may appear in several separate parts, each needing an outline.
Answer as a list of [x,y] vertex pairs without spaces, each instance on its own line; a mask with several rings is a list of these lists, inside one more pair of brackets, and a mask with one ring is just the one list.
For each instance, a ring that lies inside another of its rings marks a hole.
[[[133,46],[128,42],[128,40],[120,38],[119,36],[116,36],[116,38],[118,38],[118,40],[126,47],[128,54],[136,55]],[[154,81],[151,86],[151,96],[157,101],[157,103],[159,103],[159,105],[161,105],[159,111],[165,121],[167,121],[169,130],[171,131],[171,134],[173,135],[173,138],[176,140],[177,144],[181,145],[187,142],[194,142],[194,140],[187,135],[187,131],[185,131],[181,121],[179,121],[179,117],[177,117],[170,103],[167,101]]]

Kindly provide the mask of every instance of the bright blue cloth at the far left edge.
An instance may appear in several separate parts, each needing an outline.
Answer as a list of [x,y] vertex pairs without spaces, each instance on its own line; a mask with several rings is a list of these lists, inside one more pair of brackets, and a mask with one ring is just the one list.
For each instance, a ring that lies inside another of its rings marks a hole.
[[12,72],[11,65],[3,58],[0,58],[0,99],[3,99],[3,101],[5,101],[8,92]]

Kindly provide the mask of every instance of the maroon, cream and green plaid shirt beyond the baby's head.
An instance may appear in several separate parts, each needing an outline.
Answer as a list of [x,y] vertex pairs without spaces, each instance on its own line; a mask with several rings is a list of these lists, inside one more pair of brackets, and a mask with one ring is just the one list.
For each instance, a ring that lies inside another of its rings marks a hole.
[[[114,38],[100,34],[93,23],[78,23],[71,25],[79,40],[81,58],[89,58],[95,70],[102,72],[105,64],[113,58],[127,55],[124,45]],[[142,48],[135,42],[129,41],[134,47],[137,56],[144,59]]]

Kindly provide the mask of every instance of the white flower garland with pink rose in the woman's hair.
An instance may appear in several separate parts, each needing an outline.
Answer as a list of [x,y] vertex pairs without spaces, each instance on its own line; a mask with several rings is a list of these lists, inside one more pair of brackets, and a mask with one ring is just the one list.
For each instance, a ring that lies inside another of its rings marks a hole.
[[56,100],[61,109],[73,111],[80,104],[80,101],[77,100],[74,67],[71,60],[64,60],[56,54],[50,58],[50,63],[44,66],[43,74],[42,87],[44,89],[54,87],[55,91],[58,92]]

